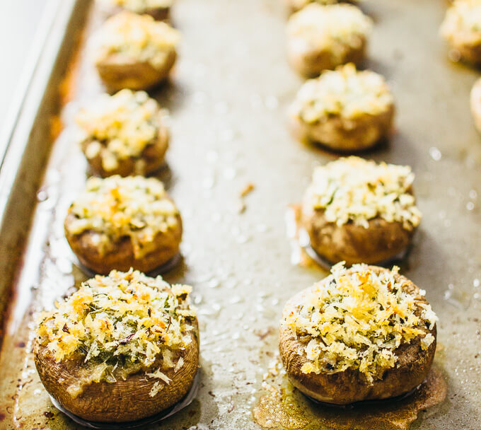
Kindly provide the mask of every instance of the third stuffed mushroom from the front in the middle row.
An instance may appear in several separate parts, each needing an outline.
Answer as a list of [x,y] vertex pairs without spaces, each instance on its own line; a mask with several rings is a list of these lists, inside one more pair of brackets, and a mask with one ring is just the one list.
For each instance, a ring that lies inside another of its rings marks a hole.
[[303,84],[291,106],[294,136],[340,152],[363,151],[393,127],[394,98],[383,76],[354,64]]

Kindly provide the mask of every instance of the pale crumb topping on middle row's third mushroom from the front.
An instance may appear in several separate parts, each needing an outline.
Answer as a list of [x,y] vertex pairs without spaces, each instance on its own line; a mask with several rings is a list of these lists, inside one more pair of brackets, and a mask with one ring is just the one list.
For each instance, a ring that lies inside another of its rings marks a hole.
[[325,122],[332,115],[352,120],[379,115],[393,108],[394,98],[383,76],[357,71],[354,64],[324,71],[301,86],[292,113],[307,124]]

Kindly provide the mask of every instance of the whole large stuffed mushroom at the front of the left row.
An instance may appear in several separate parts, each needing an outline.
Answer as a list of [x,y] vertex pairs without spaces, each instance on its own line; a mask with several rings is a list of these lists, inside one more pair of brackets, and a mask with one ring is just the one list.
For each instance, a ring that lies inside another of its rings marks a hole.
[[192,387],[199,335],[190,286],[112,271],[39,315],[35,366],[47,392],[91,422],[131,422]]

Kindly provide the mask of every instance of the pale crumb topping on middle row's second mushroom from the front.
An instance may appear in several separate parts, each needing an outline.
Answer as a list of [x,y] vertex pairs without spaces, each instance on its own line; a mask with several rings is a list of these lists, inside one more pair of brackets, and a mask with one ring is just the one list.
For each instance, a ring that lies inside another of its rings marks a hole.
[[352,221],[369,228],[370,219],[381,217],[412,230],[422,217],[411,191],[414,179],[407,165],[340,158],[315,168],[305,202],[337,226]]

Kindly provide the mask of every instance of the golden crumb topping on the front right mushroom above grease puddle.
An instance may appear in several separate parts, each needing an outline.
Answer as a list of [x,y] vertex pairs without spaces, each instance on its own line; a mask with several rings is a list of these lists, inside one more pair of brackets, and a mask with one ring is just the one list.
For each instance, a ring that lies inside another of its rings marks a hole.
[[407,291],[398,267],[374,272],[367,265],[331,269],[308,290],[303,303],[286,309],[282,325],[306,346],[303,373],[337,373],[357,369],[368,383],[395,366],[396,349],[421,338],[422,349],[434,342],[427,332],[437,317],[424,301],[425,292]]

